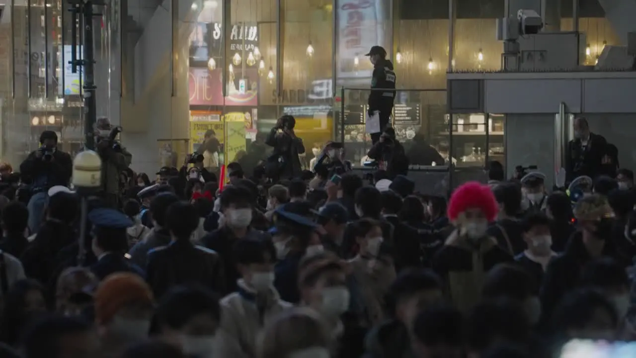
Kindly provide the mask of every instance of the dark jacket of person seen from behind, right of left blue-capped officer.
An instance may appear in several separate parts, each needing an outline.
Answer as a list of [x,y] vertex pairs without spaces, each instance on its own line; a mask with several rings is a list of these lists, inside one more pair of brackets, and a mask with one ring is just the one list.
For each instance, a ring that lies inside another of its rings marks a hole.
[[212,250],[192,245],[190,240],[177,240],[150,250],[146,280],[155,297],[163,296],[170,287],[188,283],[225,291],[221,257]]

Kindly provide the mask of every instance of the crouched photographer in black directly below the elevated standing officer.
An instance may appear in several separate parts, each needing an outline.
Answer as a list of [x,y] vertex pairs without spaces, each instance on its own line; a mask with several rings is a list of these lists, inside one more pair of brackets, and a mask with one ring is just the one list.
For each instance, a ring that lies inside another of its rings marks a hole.
[[[380,140],[366,154],[373,159],[379,169],[387,171],[390,180],[397,175],[408,173],[408,157],[404,152],[404,147],[396,138],[396,131],[388,127],[380,135]],[[372,165],[373,166],[373,165]]]

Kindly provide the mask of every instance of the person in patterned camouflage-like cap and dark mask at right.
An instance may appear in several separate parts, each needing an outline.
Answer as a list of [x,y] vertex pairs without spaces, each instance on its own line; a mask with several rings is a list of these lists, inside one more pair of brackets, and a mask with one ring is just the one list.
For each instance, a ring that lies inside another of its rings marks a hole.
[[616,258],[612,241],[614,213],[607,199],[599,194],[584,196],[574,207],[579,230],[570,237],[565,252],[548,264],[541,287],[541,306],[550,317],[556,303],[579,281],[581,269],[592,259]]

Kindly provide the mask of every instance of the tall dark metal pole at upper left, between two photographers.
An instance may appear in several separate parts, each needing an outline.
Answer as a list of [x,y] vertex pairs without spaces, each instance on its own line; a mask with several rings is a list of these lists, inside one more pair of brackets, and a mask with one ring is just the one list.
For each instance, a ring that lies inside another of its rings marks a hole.
[[84,136],[85,147],[95,150],[93,138],[93,125],[97,121],[97,103],[95,101],[95,51],[93,49],[93,0],[88,0],[83,5],[84,15],[84,58],[82,61],[86,80],[84,82]]

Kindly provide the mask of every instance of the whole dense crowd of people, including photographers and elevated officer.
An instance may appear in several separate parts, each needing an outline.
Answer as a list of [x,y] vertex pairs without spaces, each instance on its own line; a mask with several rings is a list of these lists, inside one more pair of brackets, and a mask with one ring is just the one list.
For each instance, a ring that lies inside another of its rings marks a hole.
[[[394,88],[369,55],[372,86]],[[86,199],[43,132],[20,173],[0,165],[0,356],[558,358],[636,340],[633,173],[602,137],[577,120],[555,187],[491,162],[487,184],[422,195],[384,97],[364,178],[342,143],[303,170],[289,115],[226,178],[214,132],[181,168],[135,173],[100,118]]]

